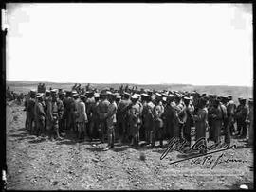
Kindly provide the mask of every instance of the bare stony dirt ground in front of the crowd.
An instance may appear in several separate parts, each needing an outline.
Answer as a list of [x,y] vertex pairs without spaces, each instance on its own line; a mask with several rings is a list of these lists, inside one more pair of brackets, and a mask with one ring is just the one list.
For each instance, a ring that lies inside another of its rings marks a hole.
[[[32,190],[82,189],[238,189],[253,187],[252,148],[232,139],[239,148],[222,153],[233,161],[211,169],[204,157],[170,165],[182,155],[170,152],[160,160],[163,148],[138,149],[116,144],[102,151],[99,141],[79,143],[72,135],[61,141],[38,139],[25,130],[23,106],[7,105],[7,188]],[[167,143],[167,142],[165,142]],[[94,145],[93,145],[94,144]],[[140,160],[140,153],[145,160]],[[201,162],[200,162],[201,160]],[[234,162],[234,160],[240,160]]]

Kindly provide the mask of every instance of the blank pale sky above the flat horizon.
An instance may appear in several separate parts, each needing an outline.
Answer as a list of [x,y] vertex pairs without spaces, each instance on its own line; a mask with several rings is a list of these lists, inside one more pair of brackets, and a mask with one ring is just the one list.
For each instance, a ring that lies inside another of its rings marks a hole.
[[251,4],[7,4],[7,80],[252,86]]

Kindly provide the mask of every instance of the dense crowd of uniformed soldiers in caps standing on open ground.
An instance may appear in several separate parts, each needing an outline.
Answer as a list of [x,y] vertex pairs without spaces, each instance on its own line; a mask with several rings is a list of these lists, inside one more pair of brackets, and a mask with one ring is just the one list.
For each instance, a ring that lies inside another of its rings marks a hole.
[[[247,136],[253,140],[253,100],[239,98],[236,105],[232,96],[199,94],[196,91],[180,92],[155,90],[114,90],[86,88],[86,92],[50,89],[45,93],[31,90],[25,101],[26,128],[38,136],[48,134],[62,139],[64,131],[73,131],[78,139],[107,140],[109,148],[114,143],[130,143],[138,147],[139,141],[146,145],[163,147],[163,140],[180,138],[192,142],[206,138],[215,143],[230,144],[231,136]],[[236,124],[236,126],[235,126]]]

